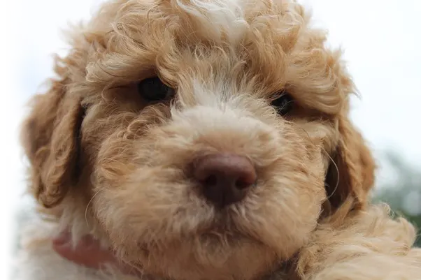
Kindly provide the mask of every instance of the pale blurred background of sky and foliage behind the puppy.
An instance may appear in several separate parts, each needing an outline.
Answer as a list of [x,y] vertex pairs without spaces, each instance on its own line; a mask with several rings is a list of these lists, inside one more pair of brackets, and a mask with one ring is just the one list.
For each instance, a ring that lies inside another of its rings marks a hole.
[[[301,0],[329,45],[344,58],[362,98],[352,119],[380,166],[375,200],[421,226],[421,1]],[[52,54],[65,54],[60,29],[86,20],[99,0],[6,1],[6,255],[17,251],[20,223],[33,202],[20,195],[24,168],[16,144],[23,105],[52,75]],[[418,245],[421,240],[418,239]],[[13,266],[6,264],[12,279]]]

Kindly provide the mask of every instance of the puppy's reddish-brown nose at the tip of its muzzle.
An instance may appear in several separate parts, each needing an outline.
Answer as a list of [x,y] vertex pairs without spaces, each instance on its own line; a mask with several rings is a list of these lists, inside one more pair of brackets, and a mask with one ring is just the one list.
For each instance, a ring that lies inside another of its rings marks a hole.
[[219,207],[242,200],[257,179],[250,160],[236,154],[203,156],[195,161],[193,172],[204,196]]

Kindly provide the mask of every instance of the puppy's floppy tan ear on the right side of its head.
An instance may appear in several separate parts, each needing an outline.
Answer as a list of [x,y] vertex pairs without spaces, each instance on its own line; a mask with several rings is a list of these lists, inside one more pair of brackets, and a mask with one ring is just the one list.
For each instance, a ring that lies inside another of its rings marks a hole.
[[338,145],[331,156],[325,182],[329,199],[324,211],[329,214],[345,201],[349,210],[364,208],[374,184],[376,168],[369,147],[346,115],[338,118],[337,129]]

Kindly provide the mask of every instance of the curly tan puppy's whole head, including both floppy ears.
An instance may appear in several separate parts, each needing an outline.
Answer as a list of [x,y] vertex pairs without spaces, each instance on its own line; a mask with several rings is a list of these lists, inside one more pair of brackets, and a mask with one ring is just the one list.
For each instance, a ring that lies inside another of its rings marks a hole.
[[30,191],[147,272],[267,272],[373,180],[324,40],[286,1],[106,4],[22,123]]

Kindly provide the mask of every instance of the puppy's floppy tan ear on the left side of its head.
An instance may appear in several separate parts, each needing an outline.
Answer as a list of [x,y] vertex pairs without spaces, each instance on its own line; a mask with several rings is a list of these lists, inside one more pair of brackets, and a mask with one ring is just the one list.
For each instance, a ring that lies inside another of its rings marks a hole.
[[[65,71],[58,69],[58,73]],[[57,72],[57,68],[56,68]],[[78,177],[80,98],[69,94],[69,78],[51,80],[50,89],[29,103],[19,141],[29,159],[29,192],[45,207],[62,201]]]

